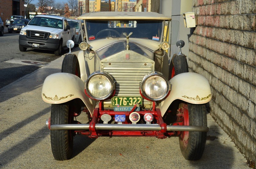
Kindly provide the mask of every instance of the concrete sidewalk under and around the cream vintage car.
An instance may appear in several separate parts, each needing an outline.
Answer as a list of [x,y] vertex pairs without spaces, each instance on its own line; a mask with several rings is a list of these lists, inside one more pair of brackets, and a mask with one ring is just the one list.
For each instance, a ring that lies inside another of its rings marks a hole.
[[61,71],[64,56],[0,89],[0,168],[249,168],[230,137],[207,114],[201,160],[183,158],[177,137],[75,136],[70,160],[56,161],[45,121],[51,105],[41,98],[45,77]]

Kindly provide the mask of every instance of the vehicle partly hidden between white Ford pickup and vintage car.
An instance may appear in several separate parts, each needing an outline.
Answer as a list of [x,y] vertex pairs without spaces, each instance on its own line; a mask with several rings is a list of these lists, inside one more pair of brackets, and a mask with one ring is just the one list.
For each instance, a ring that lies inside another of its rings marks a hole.
[[75,44],[80,44],[84,39],[84,31],[82,29],[81,20],[68,19],[68,24],[76,28]]

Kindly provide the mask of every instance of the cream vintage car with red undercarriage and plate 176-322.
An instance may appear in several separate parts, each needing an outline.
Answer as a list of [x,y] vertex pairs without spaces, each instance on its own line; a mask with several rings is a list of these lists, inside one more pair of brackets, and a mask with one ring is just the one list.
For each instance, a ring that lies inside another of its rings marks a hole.
[[[200,159],[209,130],[205,104],[212,93],[204,76],[188,72],[184,41],[176,43],[178,54],[167,55],[171,18],[92,12],[78,19],[84,20],[86,42],[78,55],[64,57],[61,72],[46,77],[42,87],[42,99],[52,104],[46,124],[54,158],[71,158],[74,136],[81,134],[178,136],[184,158]],[[72,48],[72,41],[67,44]],[[83,117],[88,120],[79,120]]]

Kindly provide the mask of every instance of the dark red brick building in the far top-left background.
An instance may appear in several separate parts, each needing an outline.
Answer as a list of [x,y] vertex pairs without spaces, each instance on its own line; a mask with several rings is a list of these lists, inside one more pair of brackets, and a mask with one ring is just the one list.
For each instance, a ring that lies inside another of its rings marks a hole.
[[[17,2],[15,2],[17,3]],[[4,21],[5,25],[5,20],[9,19],[11,15],[22,15],[24,16],[24,1],[20,0],[20,13],[19,14],[14,14],[13,13],[13,1],[12,0],[0,0],[0,17]]]

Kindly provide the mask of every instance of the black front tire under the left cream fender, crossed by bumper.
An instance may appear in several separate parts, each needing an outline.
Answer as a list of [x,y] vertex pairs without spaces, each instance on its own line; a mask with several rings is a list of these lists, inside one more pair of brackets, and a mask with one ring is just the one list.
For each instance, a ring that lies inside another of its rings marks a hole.
[[[72,108],[66,104],[52,104],[51,125],[72,124],[74,116],[71,114]],[[73,152],[73,130],[51,130],[52,154],[56,160],[68,160]]]

